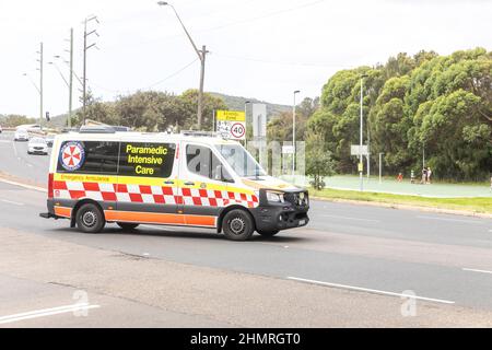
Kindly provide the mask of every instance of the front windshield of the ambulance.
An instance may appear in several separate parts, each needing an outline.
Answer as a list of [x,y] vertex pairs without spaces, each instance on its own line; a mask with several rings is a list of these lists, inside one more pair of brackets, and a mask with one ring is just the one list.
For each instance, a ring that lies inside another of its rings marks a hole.
[[265,176],[256,160],[239,144],[216,144],[219,152],[241,177]]

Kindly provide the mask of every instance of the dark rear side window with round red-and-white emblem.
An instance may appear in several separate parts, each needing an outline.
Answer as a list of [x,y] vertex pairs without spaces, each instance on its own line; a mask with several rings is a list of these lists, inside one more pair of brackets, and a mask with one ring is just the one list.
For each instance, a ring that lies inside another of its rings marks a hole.
[[73,174],[116,174],[118,142],[66,141],[60,147],[57,171]]

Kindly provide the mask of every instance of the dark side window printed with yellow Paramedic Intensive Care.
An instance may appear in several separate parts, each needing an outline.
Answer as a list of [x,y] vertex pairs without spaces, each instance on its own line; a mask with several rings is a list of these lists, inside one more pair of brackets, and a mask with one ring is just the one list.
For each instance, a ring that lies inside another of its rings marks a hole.
[[175,154],[175,143],[121,142],[118,174],[169,177]]

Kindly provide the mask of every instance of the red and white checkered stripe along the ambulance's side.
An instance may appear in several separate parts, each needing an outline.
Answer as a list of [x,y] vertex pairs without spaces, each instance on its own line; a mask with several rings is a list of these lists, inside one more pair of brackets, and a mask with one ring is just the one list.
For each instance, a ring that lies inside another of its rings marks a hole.
[[152,205],[185,205],[202,207],[227,207],[241,205],[258,207],[258,197],[227,190],[198,188],[117,185],[79,182],[54,182],[54,195],[59,199],[91,198],[98,201],[121,201]]

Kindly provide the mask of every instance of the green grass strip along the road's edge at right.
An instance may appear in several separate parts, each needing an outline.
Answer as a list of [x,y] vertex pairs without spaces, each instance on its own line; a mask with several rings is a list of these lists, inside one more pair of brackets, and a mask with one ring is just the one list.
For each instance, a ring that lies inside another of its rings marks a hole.
[[356,190],[339,190],[325,188],[323,190],[309,189],[311,197],[326,199],[344,199],[371,201],[389,205],[406,205],[417,207],[431,207],[450,210],[465,210],[479,213],[492,213],[491,198],[430,198],[419,196],[391,195],[379,192],[360,192]]

